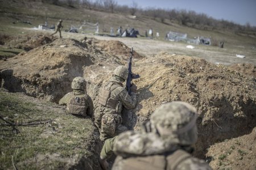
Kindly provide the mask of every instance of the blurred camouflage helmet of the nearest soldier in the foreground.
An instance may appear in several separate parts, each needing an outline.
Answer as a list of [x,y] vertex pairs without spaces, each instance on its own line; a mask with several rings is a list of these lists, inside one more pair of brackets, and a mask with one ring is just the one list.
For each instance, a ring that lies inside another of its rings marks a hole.
[[150,122],[163,139],[193,145],[197,141],[196,119],[195,107],[183,101],[172,101],[156,109]]

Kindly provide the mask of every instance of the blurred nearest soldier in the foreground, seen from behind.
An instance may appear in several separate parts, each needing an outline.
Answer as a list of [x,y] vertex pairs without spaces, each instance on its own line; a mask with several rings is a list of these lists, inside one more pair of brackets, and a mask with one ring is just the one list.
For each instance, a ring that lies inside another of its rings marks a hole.
[[141,131],[126,131],[107,139],[101,150],[100,164],[117,155],[112,169],[211,169],[204,160],[193,158],[197,141],[197,111],[191,104],[172,101],[152,113]]

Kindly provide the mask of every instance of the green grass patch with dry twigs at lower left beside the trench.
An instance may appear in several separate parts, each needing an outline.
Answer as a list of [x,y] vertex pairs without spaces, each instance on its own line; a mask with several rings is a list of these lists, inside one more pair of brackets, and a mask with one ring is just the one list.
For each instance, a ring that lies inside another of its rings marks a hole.
[[[95,128],[90,119],[18,94],[0,90],[0,96],[0,169],[11,168],[12,157],[18,169],[61,169],[69,160],[91,154]],[[46,123],[23,126],[36,122]]]

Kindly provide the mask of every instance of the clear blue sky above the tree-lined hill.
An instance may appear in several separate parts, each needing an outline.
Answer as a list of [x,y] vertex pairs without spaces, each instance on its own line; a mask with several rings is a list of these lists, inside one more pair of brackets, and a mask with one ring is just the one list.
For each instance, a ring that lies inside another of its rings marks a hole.
[[[131,6],[133,0],[115,0],[118,5]],[[215,19],[256,26],[256,0],[136,0],[141,8],[185,9],[204,13]]]

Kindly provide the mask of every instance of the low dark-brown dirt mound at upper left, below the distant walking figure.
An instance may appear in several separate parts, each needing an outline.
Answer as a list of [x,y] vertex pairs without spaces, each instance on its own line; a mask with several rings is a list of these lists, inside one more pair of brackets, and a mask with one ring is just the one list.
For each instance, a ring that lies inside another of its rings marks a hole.
[[13,48],[19,48],[26,51],[37,48],[45,44],[51,43],[53,40],[56,40],[56,37],[53,37],[49,34],[30,34],[30,35],[19,35],[16,37],[9,37],[5,40],[5,46],[10,46]]

